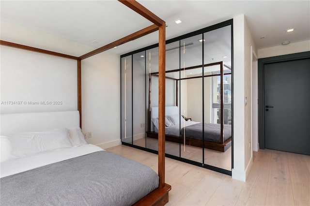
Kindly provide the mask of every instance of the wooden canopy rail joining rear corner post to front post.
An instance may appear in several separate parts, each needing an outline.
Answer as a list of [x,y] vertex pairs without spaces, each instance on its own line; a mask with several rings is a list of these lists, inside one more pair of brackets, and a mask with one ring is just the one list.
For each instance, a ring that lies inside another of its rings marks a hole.
[[135,33],[132,33],[132,34],[130,34],[128,36],[125,36],[122,39],[119,39],[119,40],[117,40],[115,42],[112,42],[110,44],[102,46],[102,47],[100,47],[98,49],[95,49],[95,50],[93,50],[93,51],[91,51],[91,52],[89,52],[87,54],[84,54],[84,55],[80,56],[79,59],[86,59],[86,58],[92,57],[93,55],[96,55],[96,54],[99,54],[101,52],[107,51],[107,50],[109,50],[111,48],[114,48],[115,46],[119,46],[121,44],[125,44],[127,42],[130,42],[132,40],[138,39],[138,38],[140,38],[142,36],[145,36],[147,34],[153,33],[156,30],[158,30],[158,27],[155,24],[153,24],[153,25],[151,25],[151,26],[149,26],[147,28],[141,29],[141,30],[139,30],[139,31],[137,31]]

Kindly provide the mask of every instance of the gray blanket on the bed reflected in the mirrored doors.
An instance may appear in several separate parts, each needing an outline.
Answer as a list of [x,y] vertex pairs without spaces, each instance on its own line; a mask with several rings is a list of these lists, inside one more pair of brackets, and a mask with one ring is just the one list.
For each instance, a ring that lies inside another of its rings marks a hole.
[[[202,140],[202,123],[193,124],[185,127],[186,138]],[[181,129],[181,136],[184,137],[184,128]],[[204,123],[204,140],[220,142],[221,125]],[[232,136],[232,125],[224,124],[224,141]]]

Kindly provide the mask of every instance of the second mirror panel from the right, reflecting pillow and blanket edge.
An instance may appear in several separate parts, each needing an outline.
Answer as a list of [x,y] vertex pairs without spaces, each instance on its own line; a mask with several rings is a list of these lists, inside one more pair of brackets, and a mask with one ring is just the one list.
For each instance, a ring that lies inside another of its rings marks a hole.
[[181,157],[202,163],[202,41],[199,40],[202,34],[180,40],[180,134]]

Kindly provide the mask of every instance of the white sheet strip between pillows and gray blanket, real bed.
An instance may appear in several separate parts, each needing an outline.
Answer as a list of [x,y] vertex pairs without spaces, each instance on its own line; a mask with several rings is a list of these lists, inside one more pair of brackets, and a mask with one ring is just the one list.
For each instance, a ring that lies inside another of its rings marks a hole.
[[44,152],[34,156],[1,162],[0,177],[7,177],[17,173],[25,172],[47,164],[61,162],[71,158],[83,156],[96,151],[104,150],[100,147],[87,144],[79,147],[70,147]]

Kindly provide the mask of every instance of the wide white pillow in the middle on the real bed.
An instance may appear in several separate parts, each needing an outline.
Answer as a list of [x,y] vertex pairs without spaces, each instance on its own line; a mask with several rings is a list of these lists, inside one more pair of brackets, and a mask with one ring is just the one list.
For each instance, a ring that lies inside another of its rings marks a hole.
[[23,158],[58,148],[72,147],[67,128],[47,132],[26,132],[8,135],[13,158]]

